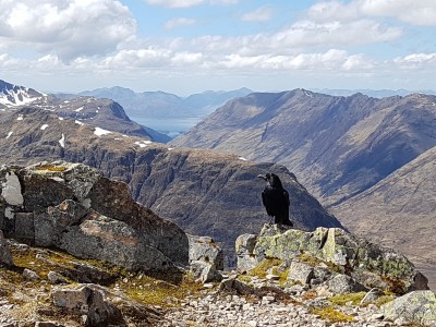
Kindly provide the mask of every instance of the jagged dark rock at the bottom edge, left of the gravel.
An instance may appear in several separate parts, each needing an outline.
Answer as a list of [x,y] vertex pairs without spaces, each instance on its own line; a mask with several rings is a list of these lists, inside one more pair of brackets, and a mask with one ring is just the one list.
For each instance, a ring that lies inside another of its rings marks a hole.
[[106,326],[123,323],[119,308],[106,301],[104,292],[93,284],[56,288],[50,296],[53,305],[70,314],[85,316],[85,326]]

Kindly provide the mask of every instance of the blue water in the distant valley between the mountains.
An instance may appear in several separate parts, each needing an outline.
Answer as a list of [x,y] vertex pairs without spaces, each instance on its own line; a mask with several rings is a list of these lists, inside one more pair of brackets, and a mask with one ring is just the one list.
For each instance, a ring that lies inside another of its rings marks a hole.
[[189,131],[197,122],[202,120],[201,117],[195,118],[182,118],[182,119],[162,119],[162,118],[147,118],[147,117],[130,117],[131,120],[150,128],[159,133],[167,134],[169,136],[177,136]]

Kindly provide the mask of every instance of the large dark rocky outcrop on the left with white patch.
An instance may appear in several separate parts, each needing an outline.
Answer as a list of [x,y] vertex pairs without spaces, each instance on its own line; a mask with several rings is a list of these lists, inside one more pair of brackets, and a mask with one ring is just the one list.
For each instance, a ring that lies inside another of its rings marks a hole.
[[137,204],[128,185],[78,164],[2,168],[0,228],[8,237],[132,270],[189,264],[186,234]]

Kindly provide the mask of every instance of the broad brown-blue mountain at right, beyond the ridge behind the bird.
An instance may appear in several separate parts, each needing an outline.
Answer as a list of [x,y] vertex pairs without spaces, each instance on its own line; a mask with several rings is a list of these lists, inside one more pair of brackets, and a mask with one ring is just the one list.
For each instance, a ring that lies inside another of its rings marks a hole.
[[420,94],[256,93],[229,101],[171,144],[282,164],[332,205],[435,146],[435,96]]

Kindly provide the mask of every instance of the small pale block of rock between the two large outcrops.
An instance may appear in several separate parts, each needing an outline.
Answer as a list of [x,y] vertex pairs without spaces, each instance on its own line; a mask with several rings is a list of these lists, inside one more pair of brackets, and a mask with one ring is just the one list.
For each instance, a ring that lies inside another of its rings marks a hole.
[[216,269],[223,270],[223,253],[214,239],[187,234],[187,240],[190,242],[190,262],[210,263],[215,265]]

